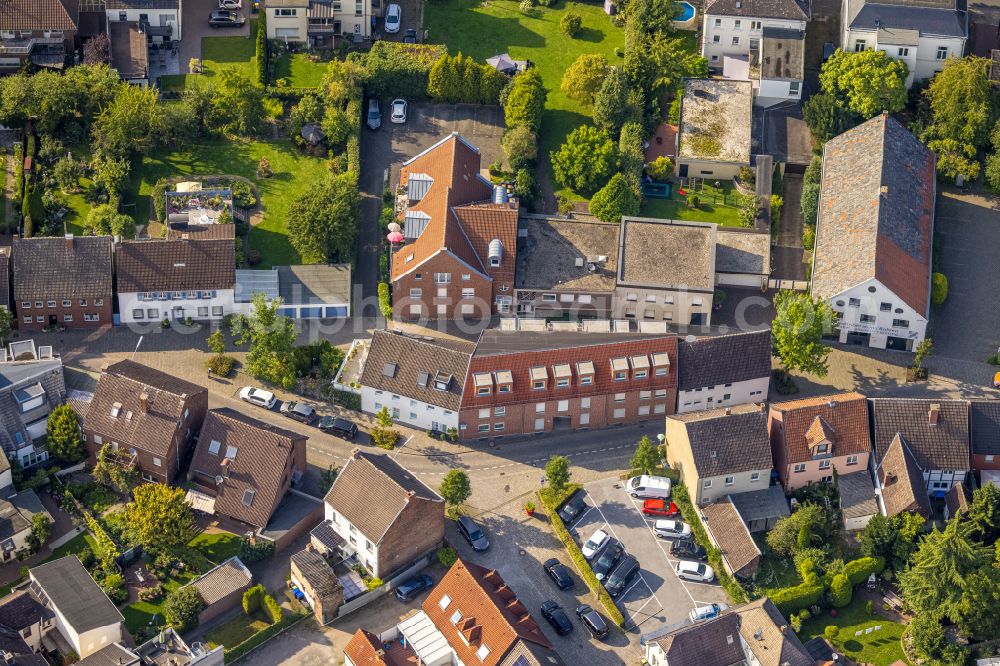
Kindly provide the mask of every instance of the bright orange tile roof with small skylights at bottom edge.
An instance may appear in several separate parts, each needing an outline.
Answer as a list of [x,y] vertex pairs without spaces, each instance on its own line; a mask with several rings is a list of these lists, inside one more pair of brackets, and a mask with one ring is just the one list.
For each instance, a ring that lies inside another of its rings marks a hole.
[[[445,595],[450,601],[442,608]],[[518,640],[552,649],[500,574],[475,564],[455,562],[424,600],[423,609],[466,664],[496,666]],[[451,622],[456,611],[461,611],[457,625]],[[484,644],[489,654],[480,659],[476,652]]]

